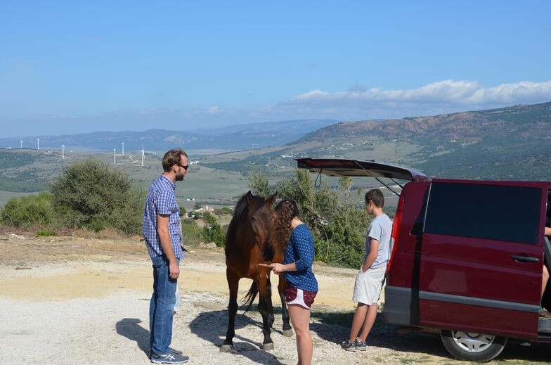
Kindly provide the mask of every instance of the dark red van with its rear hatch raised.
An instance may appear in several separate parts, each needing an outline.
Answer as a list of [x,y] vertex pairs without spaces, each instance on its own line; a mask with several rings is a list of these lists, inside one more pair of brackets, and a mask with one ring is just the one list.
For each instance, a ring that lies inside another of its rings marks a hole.
[[[545,257],[551,263],[544,236],[550,181],[429,180],[412,169],[342,159],[297,165],[375,177],[399,195],[384,321],[438,331],[446,350],[468,361],[493,359],[508,338],[551,342],[551,319],[539,316]],[[551,309],[550,291],[543,307]]]

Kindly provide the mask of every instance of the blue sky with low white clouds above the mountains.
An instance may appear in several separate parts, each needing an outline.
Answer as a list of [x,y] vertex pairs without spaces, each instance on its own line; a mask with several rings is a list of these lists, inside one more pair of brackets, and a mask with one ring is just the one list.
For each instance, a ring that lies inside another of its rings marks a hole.
[[551,1],[0,1],[0,137],[551,101]]

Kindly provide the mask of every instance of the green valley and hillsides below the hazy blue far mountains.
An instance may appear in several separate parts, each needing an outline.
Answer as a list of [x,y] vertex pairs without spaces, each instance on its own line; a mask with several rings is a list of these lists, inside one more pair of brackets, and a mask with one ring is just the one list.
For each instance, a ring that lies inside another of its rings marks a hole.
[[[232,205],[247,191],[253,169],[275,182],[296,168],[295,158],[354,158],[413,167],[429,177],[551,180],[551,102],[515,105],[401,120],[341,122],[284,146],[194,158],[177,197],[187,210],[195,204]],[[186,146],[183,146],[186,148]],[[160,156],[117,155],[116,166],[143,189],[161,172]],[[73,160],[89,153],[1,150],[0,205],[8,198],[44,191]],[[96,153],[113,162],[112,153]],[[189,199],[189,200],[188,200]],[[193,200],[195,199],[195,200]]]

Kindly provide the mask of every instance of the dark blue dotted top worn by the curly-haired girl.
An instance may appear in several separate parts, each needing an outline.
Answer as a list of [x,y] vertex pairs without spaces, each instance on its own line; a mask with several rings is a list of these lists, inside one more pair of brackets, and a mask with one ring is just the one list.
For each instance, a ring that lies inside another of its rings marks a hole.
[[313,237],[306,224],[296,226],[285,250],[283,264],[297,265],[297,271],[285,271],[283,278],[294,288],[317,292],[318,281],[312,271]]

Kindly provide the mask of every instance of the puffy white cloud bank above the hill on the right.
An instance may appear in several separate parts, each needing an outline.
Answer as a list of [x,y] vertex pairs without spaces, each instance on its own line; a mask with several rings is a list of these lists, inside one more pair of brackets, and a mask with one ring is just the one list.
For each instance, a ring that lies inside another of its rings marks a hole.
[[[518,82],[484,88],[476,81],[443,80],[417,89],[313,90],[267,108],[271,113],[310,113],[339,120],[384,119],[501,108],[551,101],[550,82]],[[265,111],[268,111],[265,110]]]

